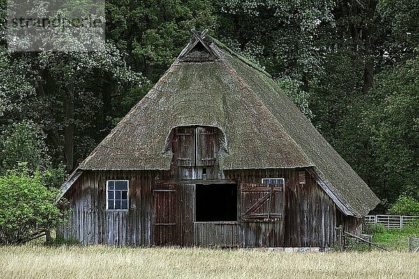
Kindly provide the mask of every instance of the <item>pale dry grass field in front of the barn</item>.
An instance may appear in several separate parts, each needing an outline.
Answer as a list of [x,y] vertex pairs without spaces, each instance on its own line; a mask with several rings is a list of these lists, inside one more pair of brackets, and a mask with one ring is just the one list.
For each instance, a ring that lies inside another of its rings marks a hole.
[[0,248],[0,278],[419,278],[409,252],[201,248]]

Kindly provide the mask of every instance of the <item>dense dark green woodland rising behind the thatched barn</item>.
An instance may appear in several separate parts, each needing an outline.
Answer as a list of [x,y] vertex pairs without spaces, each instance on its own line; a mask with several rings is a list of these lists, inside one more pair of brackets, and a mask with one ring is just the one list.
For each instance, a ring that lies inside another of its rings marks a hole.
[[[71,172],[195,27],[272,74],[383,200],[377,211],[402,193],[419,199],[418,1],[110,0],[105,10],[103,52],[13,53],[0,35],[3,170],[18,161],[34,170],[43,156],[47,169]],[[25,158],[14,140],[24,129],[12,132],[22,125],[39,146]]]

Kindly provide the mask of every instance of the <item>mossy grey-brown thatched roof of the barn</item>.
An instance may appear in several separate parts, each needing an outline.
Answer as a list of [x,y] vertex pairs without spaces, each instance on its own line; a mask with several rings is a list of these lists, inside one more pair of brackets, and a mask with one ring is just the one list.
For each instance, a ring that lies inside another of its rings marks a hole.
[[191,44],[79,169],[170,169],[172,128],[214,126],[225,137],[221,169],[313,167],[348,215],[376,206],[374,193],[270,75],[214,40],[205,43],[212,53]]

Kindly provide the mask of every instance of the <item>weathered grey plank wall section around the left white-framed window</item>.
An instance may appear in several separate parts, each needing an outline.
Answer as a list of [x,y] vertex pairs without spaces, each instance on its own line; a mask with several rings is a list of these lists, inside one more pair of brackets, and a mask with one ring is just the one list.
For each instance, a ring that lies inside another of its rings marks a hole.
[[[68,224],[57,228],[64,239],[84,245],[149,246],[152,230],[152,172],[84,171],[65,197],[70,202]],[[129,209],[106,211],[106,181],[128,179]]]

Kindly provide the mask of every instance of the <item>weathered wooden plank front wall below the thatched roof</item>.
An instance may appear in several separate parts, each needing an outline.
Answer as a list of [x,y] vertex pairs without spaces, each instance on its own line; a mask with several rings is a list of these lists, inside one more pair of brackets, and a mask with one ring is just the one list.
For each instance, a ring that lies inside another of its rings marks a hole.
[[[304,169],[225,171],[226,181],[236,181],[239,189],[237,222],[195,222],[194,183],[198,181],[159,183],[161,179],[170,178],[167,171],[84,171],[66,193],[72,211],[68,224],[59,226],[57,233],[65,239],[78,239],[84,245],[203,247],[332,247],[338,225],[344,225],[347,232],[357,233],[360,219],[344,216],[310,174],[307,173],[305,183],[300,183],[302,171]],[[279,191],[275,186],[261,184],[263,178],[284,178],[284,189]],[[110,179],[129,181],[128,210],[106,210],[105,185]],[[267,191],[264,187],[277,191],[272,201],[262,201],[249,211],[247,217],[250,218],[242,218],[249,204],[257,203],[266,195],[249,193]],[[275,195],[281,195],[281,199]]]

